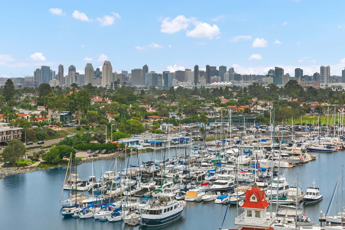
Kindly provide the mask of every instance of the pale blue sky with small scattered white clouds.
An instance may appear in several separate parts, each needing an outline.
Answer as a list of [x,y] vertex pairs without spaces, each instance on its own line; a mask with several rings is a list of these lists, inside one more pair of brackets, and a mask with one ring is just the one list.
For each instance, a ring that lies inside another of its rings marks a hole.
[[345,67],[345,1],[3,1],[0,77],[33,76],[41,65],[84,73],[175,71],[205,66],[294,76]]

